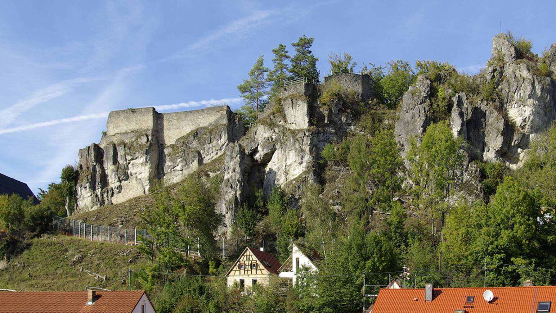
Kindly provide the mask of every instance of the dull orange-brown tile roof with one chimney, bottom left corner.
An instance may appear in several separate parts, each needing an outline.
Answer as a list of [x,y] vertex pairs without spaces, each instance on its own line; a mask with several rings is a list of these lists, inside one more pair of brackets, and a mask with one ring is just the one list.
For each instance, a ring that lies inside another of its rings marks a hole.
[[0,292],[0,311],[6,313],[131,313],[145,291],[97,291],[85,305],[87,291]]

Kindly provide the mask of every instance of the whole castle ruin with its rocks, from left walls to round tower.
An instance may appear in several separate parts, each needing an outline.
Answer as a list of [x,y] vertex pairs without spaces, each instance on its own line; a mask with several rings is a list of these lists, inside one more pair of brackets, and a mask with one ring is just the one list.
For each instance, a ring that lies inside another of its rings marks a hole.
[[79,151],[77,210],[146,194],[156,179],[180,182],[222,154],[224,182],[216,210],[227,226],[255,188],[269,195],[280,185],[299,199],[300,187],[315,182],[322,170],[317,159],[324,145],[353,129],[349,104],[342,99],[319,102],[320,90],[333,81],[361,100],[371,96],[368,75],[341,74],[325,77],[322,85],[291,85],[247,133],[241,117],[227,106],[163,114],[152,107],[111,112],[101,142]]

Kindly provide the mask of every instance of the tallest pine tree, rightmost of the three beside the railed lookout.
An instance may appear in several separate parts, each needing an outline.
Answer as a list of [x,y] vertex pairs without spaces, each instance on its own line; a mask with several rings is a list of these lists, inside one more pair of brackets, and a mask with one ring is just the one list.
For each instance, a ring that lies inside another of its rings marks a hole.
[[291,44],[295,48],[295,56],[291,58],[289,71],[294,78],[319,79],[320,72],[316,69],[316,61],[319,59],[310,50],[314,40],[303,35],[297,42]]

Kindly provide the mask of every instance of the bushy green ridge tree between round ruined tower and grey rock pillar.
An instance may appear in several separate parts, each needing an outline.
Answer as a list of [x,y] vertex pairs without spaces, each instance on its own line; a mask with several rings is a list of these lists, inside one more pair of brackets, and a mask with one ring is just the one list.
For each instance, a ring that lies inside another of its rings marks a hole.
[[388,62],[388,74],[380,80],[382,94],[390,109],[396,109],[401,97],[409,89],[415,75],[409,62],[398,60]]

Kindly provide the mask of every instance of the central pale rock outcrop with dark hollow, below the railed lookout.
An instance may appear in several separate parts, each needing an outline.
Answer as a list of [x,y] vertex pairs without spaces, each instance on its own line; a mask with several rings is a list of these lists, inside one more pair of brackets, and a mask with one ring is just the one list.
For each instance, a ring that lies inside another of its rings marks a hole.
[[349,105],[341,99],[326,105],[317,99],[316,85],[290,86],[280,102],[264,115],[237,143],[226,150],[224,182],[217,211],[229,226],[241,203],[256,188],[268,196],[280,185],[299,200],[302,186],[320,176],[320,151],[340,140],[353,128]]

